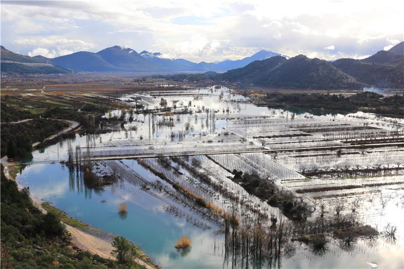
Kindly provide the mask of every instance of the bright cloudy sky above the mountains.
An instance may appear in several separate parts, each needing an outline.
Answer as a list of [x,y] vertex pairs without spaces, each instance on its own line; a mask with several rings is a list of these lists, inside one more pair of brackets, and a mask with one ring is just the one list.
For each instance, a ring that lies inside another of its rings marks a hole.
[[261,49],[366,58],[404,40],[404,1],[1,1],[1,44],[49,58],[123,45],[194,62]]

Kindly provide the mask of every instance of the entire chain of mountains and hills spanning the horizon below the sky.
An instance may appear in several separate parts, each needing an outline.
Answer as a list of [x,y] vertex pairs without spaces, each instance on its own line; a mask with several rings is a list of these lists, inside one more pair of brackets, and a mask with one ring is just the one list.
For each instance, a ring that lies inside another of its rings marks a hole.
[[360,89],[365,86],[404,88],[404,42],[363,59],[334,62],[292,58],[261,50],[241,60],[194,63],[167,59],[159,52],[113,46],[96,53],[75,52],[57,58],[29,57],[1,47],[1,68],[5,74],[52,74],[85,72],[223,72],[207,74],[213,80],[240,82],[277,88]]

